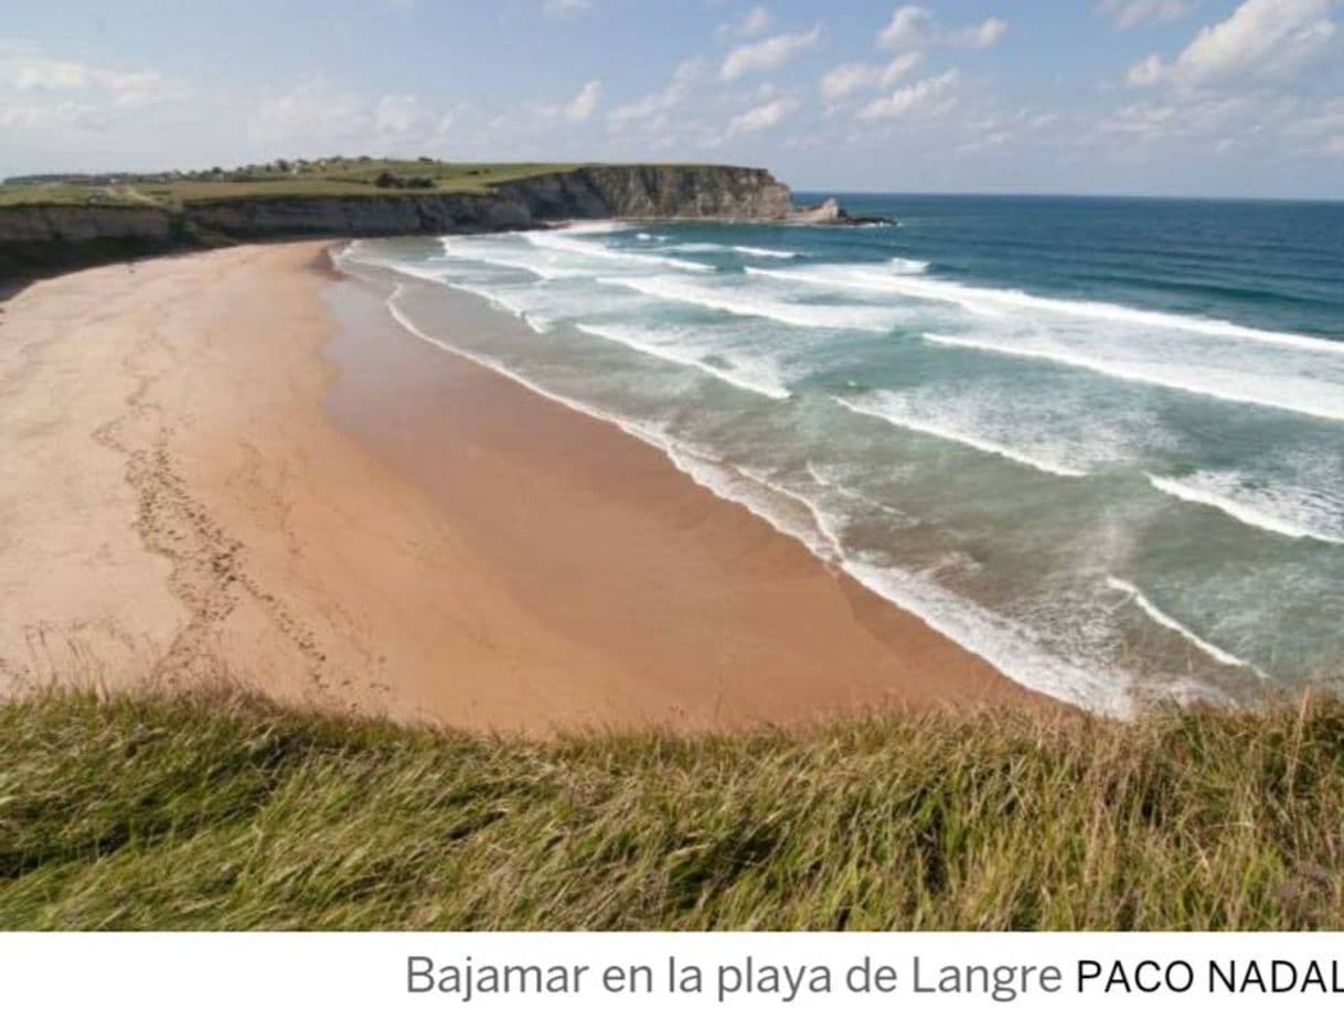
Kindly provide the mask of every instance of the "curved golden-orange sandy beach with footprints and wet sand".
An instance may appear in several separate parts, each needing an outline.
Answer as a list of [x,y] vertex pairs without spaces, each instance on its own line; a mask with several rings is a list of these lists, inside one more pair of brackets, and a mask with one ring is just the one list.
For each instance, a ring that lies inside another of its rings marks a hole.
[[[657,450],[418,341],[323,243],[0,314],[0,676],[544,733],[1040,705]],[[503,325],[464,295],[464,326]]]

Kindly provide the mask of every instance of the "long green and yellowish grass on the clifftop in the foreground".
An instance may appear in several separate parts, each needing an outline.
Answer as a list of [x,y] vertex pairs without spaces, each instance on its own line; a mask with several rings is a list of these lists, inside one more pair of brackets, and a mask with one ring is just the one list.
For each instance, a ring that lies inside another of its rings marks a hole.
[[7,928],[1340,928],[1344,706],[554,743],[0,706]]

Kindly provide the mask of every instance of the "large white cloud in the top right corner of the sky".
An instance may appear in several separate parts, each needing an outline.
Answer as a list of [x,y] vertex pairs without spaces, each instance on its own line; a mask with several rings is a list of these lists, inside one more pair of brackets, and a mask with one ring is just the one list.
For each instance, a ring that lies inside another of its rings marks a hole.
[[1129,83],[1171,82],[1210,87],[1282,81],[1325,55],[1340,38],[1333,0],[1246,0],[1226,20],[1199,31],[1172,62],[1152,55],[1129,71]]

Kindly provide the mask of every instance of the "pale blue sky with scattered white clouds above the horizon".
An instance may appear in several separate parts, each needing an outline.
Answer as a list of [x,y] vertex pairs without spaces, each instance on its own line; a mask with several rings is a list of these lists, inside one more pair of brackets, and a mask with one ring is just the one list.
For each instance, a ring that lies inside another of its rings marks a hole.
[[0,175],[386,154],[1344,199],[1344,0],[0,0]]

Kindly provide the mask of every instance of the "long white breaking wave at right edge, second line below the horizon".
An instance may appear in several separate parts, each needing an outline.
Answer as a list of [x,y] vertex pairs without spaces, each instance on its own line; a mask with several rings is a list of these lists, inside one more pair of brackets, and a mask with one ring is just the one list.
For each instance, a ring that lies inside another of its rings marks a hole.
[[1344,420],[1344,388],[1329,381],[1278,373],[1267,365],[1258,372],[1234,371],[1202,367],[1193,361],[1183,360],[1117,361],[1054,341],[1021,342],[942,333],[925,333],[923,338],[942,347],[1052,361],[1070,368],[1083,368],[1111,379],[1161,385],[1231,403],[1250,403],[1257,407],[1305,414],[1325,420]]

